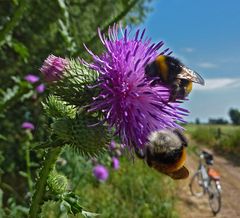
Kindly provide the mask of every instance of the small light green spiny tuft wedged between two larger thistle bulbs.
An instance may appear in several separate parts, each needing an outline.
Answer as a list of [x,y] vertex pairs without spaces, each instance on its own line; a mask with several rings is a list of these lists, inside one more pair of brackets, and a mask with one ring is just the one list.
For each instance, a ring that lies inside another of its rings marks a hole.
[[74,118],[76,110],[72,106],[66,105],[58,97],[50,95],[45,103],[42,103],[46,114],[53,118],[70,117]]

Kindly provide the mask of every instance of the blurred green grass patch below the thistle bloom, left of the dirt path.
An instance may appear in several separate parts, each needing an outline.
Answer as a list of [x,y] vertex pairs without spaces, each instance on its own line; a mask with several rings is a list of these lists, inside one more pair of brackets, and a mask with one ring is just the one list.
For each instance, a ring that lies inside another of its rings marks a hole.
[[[76,166],[78,167],[78,166]],[[79,170],[81,167],[79,167]],[[175,183],[140,160],[123,158],[119,171],[110,171],[106,183],[98,183],[91,172],[81,178],[76,192],[85,208],[104,218],[176,218]],[[56,206],[56,205],[55,205]],[[54,218],[54,205],[44,218]],[[76,216],[81,217],[81,216]]]

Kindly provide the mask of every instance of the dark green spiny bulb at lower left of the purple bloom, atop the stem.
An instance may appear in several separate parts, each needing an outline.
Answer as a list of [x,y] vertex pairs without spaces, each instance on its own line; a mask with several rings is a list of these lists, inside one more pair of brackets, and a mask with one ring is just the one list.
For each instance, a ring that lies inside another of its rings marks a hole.
[[56,140],[68,144],[83,156],[96,156],[103,152],[109,142],[110,136],[107,127],[89,125],[99,122],[96,117],[84,112],[76,115],[74,119],[62,118],[52,124]]

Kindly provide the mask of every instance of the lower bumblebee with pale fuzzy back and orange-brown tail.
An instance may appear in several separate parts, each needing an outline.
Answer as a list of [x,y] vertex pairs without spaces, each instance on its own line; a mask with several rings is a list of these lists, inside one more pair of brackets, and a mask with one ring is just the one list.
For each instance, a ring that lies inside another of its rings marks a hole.
[[177,180],[189,176],[184,166],[186,147],[187,139],[181,131],[165,129],[152,132],[144,149],[136,149],[135,152],[139,158],[145,159],[149,167]]

